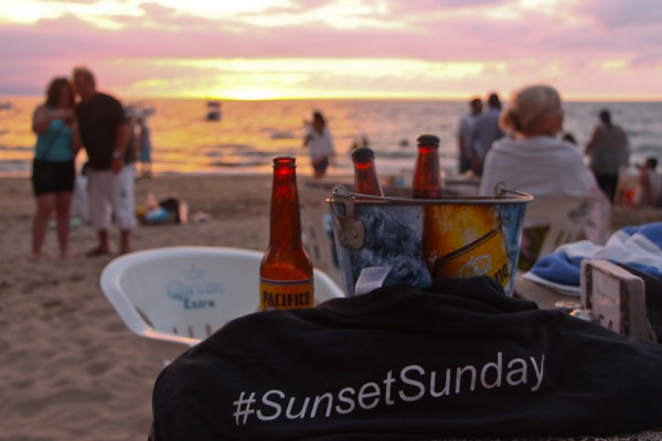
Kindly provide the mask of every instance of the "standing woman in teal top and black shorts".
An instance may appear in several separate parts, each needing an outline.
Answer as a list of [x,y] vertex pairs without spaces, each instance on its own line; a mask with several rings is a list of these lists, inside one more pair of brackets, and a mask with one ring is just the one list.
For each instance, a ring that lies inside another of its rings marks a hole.
[[68,257],[70,208],[76,179],[74,160],[81,149],[78,122],[74,115],[74,90],[67,78],[54,78],[46,101],[32,116],[36,133],[32,162],[32,189],[36,213],[32,223],[32,259],[41,249],[53,211],[57,220],[60,256]]

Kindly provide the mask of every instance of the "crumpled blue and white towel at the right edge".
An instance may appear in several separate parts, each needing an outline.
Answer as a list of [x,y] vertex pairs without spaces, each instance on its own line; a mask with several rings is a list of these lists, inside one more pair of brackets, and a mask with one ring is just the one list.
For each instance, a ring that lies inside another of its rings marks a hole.
[[662,223],[619,229],[605,246],[589,240],[562,245],[554,252],[543,256],[531,272],[554,283],[579,287],[584,259],[624,263],[662,280]]

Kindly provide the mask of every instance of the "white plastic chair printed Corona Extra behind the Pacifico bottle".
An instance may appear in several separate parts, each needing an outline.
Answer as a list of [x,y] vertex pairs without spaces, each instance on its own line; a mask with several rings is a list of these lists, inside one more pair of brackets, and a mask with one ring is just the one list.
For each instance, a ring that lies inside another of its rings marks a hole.
[[[223,247],[166,247],[110,261],[104,294],[127,327],[166,363],[228,321],[259,310],[263,252]],[[344,297],[324,272],[313,276],[316,303]]]

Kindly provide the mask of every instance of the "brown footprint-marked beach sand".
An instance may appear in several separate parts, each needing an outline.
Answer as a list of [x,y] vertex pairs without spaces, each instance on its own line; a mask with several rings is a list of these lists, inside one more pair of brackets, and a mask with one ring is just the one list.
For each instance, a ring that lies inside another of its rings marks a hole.
[[[264,250],[270,176],[172,175],[139,180],[147,192],[177,195],[206,223],[139,226],[135,250],[204,245]],[[302,180],[300,180],[302,182]],[[32,262],[30,180],[0,179],[0,440],[145,440],[161,361],[150,356],[99,289],[116,256],[87,258],[89,226],[72,230],[67,260]],[[660,211],[616,207],[612,228],[662,219]],[[117,249],[117,232],[113,232]],[[44,247],[57,256],[55,232]]]

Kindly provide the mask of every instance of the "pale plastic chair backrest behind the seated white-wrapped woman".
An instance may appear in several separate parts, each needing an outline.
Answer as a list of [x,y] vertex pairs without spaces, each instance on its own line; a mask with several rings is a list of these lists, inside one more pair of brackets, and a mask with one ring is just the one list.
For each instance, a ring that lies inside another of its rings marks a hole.
[[595,203],[591,196],[535,198],[526,206],[524,230],[548,226],[538,256],[553,252],[556,247],[584,238],[589,211]]

